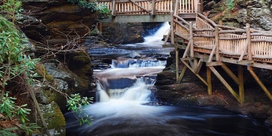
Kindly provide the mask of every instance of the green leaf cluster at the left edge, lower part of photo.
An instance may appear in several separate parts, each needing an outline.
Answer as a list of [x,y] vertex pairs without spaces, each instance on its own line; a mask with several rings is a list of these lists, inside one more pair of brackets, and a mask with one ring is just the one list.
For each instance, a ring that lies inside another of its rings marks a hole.
[[14,100],[16,100],[16,98],[8,97],[8,93],[6,93],[0,105],[0,113],[3,113],[8,118],[18,116],[20,117],[22,123],[25,123],[25,120],[29,121],[27,114],[30,114],[29,111],[31,110],[28,108],[23,108],[26,107],[27,104],[17,106],[15,105]]

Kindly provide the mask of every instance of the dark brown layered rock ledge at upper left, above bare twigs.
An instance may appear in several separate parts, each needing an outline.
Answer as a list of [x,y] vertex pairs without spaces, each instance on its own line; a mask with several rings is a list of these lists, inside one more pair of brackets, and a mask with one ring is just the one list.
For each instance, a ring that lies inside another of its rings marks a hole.
[[72,38],[76,33],[80,36],[87,34],[87,27],[95,24],[97,18],[97,13],[69,4],[67,0],[24,0],[23,8],[22,31],[31,40],[42,42],[48,39],[50,45],[67,43],[66,37],[60,33]]

